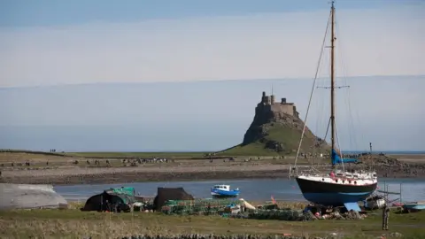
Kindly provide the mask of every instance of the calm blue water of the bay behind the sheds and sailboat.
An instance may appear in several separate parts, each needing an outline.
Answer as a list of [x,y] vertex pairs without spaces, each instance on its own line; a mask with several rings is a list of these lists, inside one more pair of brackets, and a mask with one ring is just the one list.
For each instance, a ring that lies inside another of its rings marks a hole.
[[[194,197],[211,197],[210,188],[214,184],[229,184],[233,189],[241,189],[240,197],[246,200],[266,201],[271,196],[278,200],[303,201],[304,197],[298,188],[297,181],[288,179],[277,180],[243,180],[243,181],[173,181],[173,182],[135,182],[124,184],[92,184],[57,186],[56,191],[68,200],[83,200],[102,192],[104,189],[121,186],[134,187],[135,191],[143,196],[155,196],[158,187],[183,187]],[[389,185],[389,191],[399,192],[400,184],[402,200],[404,202],[425,200],[425,179],[385,179],[379,182],[378,187],[384,189]],[[391,195],[390,199],[399,198]]]

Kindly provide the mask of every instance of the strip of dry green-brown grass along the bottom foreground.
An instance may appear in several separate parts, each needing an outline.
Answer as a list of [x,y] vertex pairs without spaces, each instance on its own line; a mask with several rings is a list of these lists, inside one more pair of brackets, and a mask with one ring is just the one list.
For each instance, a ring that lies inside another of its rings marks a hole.
[[[425,238],[425,213],[390,215],[390,232],[404,238]],[[293,234],[352,238],[382,235],[381,216],[366,220],[236,220],[218,216],[166,216],[158,213],[80,212],[78,210],[19,210],[0,212],[1,238],[116,238],[124,235],[199,234]]]

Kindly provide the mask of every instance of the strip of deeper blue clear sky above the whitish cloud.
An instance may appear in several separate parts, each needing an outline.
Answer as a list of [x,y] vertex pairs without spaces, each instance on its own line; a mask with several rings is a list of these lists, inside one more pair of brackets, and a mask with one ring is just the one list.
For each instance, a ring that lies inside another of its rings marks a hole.
[[[371,9],[420,2],[421,0],[339,0],[337,7],[338,9]],[[128,22],[328,9],[326,0],[2,0],[0,6],[0,26],[2,27],[61,26],[90,21]]]

